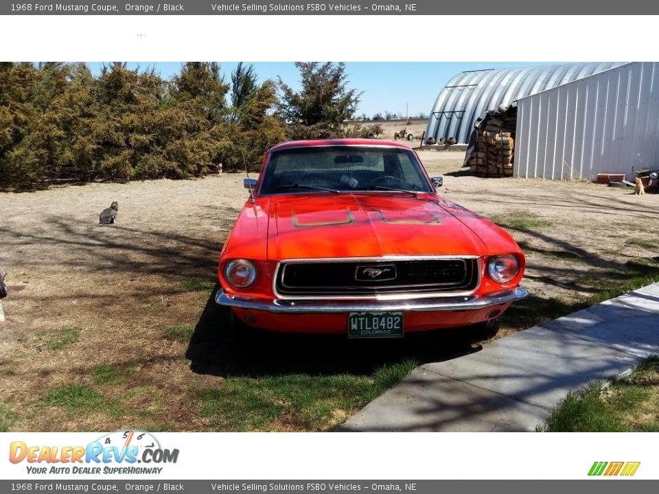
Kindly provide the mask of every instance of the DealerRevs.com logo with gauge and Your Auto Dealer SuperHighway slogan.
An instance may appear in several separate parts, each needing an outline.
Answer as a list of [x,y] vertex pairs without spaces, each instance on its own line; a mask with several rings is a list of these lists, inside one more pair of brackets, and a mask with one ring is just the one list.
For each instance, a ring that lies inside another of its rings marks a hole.
[[9,460],[14,464],[26,462],[27,473],[33,474],[143,475],[161,473],[163,467],[159,465],[176,463],[178,449],[163,448],[152,434],[133,429],[111,432],[86,446],[35,446],[14,441]]

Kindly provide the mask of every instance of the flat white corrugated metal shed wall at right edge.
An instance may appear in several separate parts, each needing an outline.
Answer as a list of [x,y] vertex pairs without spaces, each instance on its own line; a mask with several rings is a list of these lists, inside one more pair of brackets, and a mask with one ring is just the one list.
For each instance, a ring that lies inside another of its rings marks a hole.
[[591,180],[659,165],[659,64],[632,62],[518,100],[513,174]]

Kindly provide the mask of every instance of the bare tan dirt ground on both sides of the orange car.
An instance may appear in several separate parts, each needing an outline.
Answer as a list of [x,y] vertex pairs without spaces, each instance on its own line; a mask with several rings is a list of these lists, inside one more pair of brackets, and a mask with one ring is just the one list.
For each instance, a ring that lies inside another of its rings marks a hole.
[[[461,168],[463,153],[420,156],[431,176],[444,175],[446,198],[488,217],[512,211],[546,221],[511,230],[532,247],[524,286],[538,299],[586,296],[595,287],[582,280],[658,255],[656,247],[628,240],[659,242],[659,194],[476,178]],[[192,372],[194,345],[165,338],[165,329],[198,326],[212,305],[218,254],[247,196],[242,179],[222,174],[0,193],[0,264],[10,290],[0,323],[0,403],[16,415],[10,430],[207,430],[194,397],[222,377]],[[99,226],[100,211],[113,200],[117,224]],[[49,335],[70,330],[78,331],[77,341],[49,347]],[[71,414],[47,405],[51,390],[92,384],[101,365],[125,371],[118,390],[97,384],[109,401],[91,400],[91,409]]]

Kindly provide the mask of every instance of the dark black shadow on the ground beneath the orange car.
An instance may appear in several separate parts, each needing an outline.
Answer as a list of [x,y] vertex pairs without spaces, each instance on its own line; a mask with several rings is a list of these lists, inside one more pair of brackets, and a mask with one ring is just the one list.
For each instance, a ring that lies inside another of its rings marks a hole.
[[199,374],[261,377],[288,374],[371,375],[404,360],[442,362],[478,351],[464,329],[408,334],[395,340],[350,340],[347,336],[299,335],[246,329],[231,331],[231,309],[215,302],[213,289],[185,356]]

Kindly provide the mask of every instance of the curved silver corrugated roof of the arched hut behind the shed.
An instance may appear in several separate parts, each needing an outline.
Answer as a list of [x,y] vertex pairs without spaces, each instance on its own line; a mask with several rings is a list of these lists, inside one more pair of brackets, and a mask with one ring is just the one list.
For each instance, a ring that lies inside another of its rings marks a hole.
[[469,141],[476,119],[487,110],[508,106],[520,97],[533,95],[622,65],[594,62],[537,65],[514,69],[461,72],[444,86],[432,106],[426,137],[455,137]]

